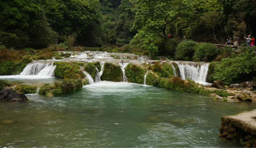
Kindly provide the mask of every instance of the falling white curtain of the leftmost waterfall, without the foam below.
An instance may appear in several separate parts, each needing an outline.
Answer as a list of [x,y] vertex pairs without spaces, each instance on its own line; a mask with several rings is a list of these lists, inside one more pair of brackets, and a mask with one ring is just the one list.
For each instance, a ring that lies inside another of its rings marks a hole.
[[36,75],[36,76],[44,76],[44,77],[54,77],[54,70],[56,66],[53,66],[52,63],[45,61],[36,61],[28,64],[20,75]]

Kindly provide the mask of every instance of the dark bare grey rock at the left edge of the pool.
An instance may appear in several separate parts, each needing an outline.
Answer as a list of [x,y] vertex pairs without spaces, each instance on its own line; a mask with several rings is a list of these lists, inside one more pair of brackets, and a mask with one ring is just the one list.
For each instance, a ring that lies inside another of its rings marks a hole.
[[28,98],[23,93],[4,87],[0,91],[0,101],[24,102],[28,101]]

